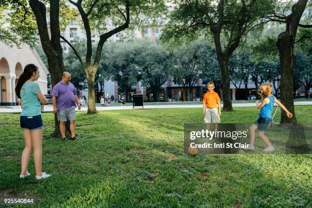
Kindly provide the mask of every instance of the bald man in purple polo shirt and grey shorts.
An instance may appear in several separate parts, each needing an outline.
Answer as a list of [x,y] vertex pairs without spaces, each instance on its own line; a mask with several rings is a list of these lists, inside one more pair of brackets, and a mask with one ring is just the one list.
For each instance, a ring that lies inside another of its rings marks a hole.
[[70,73],[66,71],[63,72],[62,81],[56,84],[52,91],[53,111],[54,113],[58,113],[62,141],[67,140],[65,137],[65,122],[68,120],[70,121],[71,140],[77,139],[75,134],[76,104],[78,109],[81,109],[76,95],[76,88],[72,83],[70,83],[70,80]]

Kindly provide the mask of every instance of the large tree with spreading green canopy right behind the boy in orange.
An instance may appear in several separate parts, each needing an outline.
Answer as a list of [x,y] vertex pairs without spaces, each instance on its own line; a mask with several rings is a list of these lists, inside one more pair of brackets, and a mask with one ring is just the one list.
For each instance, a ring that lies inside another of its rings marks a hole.
[[273,10],[272,2],[271,0],[172,1],[175,9],[171,12],[163,38],[176,39],[186,34],[212,36],[221,69],[224,111],[233,110],[230,98],[229,58],[240,45],[242,36],[263,23],[259,16]]

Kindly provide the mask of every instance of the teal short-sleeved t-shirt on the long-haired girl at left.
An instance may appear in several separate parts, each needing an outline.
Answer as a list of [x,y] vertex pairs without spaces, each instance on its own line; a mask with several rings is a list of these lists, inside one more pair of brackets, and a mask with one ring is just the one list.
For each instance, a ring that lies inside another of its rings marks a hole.
[[24,83],[20,89],[20,99],[22,101],[21,116],[38,116],[41,114],[40,101],[37,93],[40,92],[38,83]]

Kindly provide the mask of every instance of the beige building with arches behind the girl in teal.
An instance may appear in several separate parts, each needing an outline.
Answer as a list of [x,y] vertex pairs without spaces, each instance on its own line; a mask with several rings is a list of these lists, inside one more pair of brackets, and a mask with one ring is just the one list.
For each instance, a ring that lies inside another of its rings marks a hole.
[[47,94],[47,74],[49,73],[36,49],[29,45],[10,47],[0,41],[0,106],[16,106],[18,98],[15,86],[23,68],[27,64],[39,67],[40,77],[37,81],[43,94]]

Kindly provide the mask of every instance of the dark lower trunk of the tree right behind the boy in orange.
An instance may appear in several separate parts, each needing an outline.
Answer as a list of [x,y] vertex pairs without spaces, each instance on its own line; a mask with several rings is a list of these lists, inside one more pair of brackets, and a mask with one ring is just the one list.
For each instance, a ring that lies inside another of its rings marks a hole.
[[228,60],[221,59],[218,57],[220,69],[221,69],[221,81],[222,81],[222,94],[223,94],[223,111],[233,111],[231,92],[230,92],[230,81],[228,74]]

